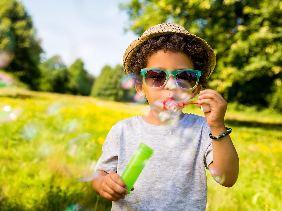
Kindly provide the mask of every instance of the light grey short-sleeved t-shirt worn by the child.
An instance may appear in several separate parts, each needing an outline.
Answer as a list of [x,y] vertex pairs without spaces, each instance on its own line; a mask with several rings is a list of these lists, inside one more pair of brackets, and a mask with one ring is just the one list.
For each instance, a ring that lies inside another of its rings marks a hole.
[[178,124],[156,126],[142,116],[115,124],[94,171],[122,175],[140,143],[154,150],[125,199],[112,210],[205,210],[205,167],[213,160],[210,127],[202,116],[185,114]]

